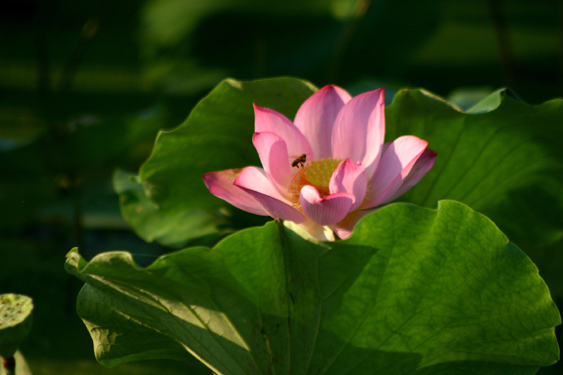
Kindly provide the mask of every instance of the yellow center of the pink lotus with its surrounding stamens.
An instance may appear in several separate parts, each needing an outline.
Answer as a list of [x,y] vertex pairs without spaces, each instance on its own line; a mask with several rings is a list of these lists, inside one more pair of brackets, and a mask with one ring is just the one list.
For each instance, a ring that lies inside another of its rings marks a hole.
[[340,163],[342,163],[341,159],[328,158],[315,160],[312,163],[303,165],[303,167],[293,175],[291,185],[289,186],[293,207],[303,212],[303,210],[301,210],[301,204],[299,203],[299,194],[305,185],[314,186],[322,196],[328,196],[330,194],[329,182],[332,177],[332,172],[336,170],[336,167],[338,167]]

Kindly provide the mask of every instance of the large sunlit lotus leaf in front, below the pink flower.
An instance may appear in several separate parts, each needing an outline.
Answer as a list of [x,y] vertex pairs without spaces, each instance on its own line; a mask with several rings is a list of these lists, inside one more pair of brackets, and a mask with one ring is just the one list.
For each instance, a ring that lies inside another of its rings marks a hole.
[[535,374],[559,357],[538,269],[454,201],[389,205],[336,243],[270,222],[146,268],[77,249],[66,268],[106,365],[184,350],[223,375]]

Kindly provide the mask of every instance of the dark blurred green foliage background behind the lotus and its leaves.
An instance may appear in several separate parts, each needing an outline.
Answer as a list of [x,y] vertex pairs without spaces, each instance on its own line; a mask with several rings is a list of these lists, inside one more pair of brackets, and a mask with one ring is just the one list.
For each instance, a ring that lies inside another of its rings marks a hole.
[[[398,87],[425,87],[462,108],[503,86],[533,104],[563,91],[555,0],[9,0],[1,7],[0,292],[34,298],[35,326],[22,350],[37,374],[153,371],[146,363],[103,369],[93,360],[74,312],[80,283],[61,260],[80,246],[87,257],[134,250],[148,264],[181,246],[162,233],[145,238],[162,245],[139,240],[121,218],[110,179],[115,167],[137,171],[158,129],[177,126],[224,77],[295,75],[353,94],[384,86],[389,101]],[[545,137],[557,139],[550,132]],[[538,140],[545,148],[535,152],[551,153],[549,141]],[[124,174],[115,176],[122,203],[125,193],[142,198],[137,182],[118,184]],[[498,201],[487,215],[517,216],[531,198],[544,210],[525,220],[557,222],[555,182],[536,184],[543,194],[523,186],[517,200]],[[206,228],[204,244],[231,230]],[[518,231],[502,229],[511,239]],[[532,235],[517,244],[561,306],[562,243],[557,231]]]

